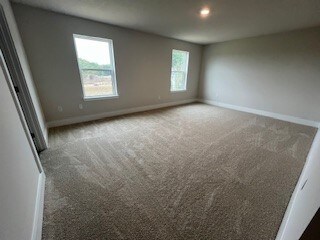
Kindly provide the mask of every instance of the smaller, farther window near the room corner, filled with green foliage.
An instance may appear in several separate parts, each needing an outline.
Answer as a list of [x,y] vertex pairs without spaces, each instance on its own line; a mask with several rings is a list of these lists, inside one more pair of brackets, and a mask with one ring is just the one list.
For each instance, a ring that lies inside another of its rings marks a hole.
[[187,90],[189,52],[172,50],[171,91]]

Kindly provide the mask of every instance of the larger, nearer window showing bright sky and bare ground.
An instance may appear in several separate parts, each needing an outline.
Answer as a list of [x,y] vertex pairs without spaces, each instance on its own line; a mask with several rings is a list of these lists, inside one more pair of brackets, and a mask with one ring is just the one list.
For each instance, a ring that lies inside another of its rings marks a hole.
[[73,35],[84,99],[118,96],[112,40]]

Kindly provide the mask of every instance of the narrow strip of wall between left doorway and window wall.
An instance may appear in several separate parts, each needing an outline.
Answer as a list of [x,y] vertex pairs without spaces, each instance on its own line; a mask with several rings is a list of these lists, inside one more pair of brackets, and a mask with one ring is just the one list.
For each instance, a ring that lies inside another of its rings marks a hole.
[[10,28],[11,36],[12,36],[14,45],[16,47],[16,51],[17,51],[19,60],[20,60],[21,68],[22,68],[22,71],[24,73],[24,76],[25,76],[25,79],[27,82],[27,86],[28,86],[28,90],[29,90],[29,93],[30,93],[30,96],[32,99],[32,103],[34,105],[43,136],[44,136],[46,143],[48,145],[48,132],[47,132],[45,118],[44,118],[44,115],[42,112],[42,108],[40,106],[40,101],[38,98],[36,87],[33,82],[33,78],[32,78],[29,64],[28,64],[28,61],[26,58],[26,54],[25,54],[25,51],[24,51],[24,48],[22,45],[20,34],[19,34],[19,31],[18,31],[18,28],[16,25],[16,21],[15,21],[13,12],[12,12],[11,5],[8,0],[0,0],[0,4],[3,7],[4,13],[5,13],[9,28]]

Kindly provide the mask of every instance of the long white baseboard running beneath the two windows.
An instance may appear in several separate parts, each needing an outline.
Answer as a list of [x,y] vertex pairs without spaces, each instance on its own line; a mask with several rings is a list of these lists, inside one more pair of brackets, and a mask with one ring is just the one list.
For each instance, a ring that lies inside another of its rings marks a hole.
[[47,122],[47,126],[49,128],[50,127],[59,127],[59,126],[70,125],[70,124],[75,124],[75,123],[98,120],[98,119],[102,119],[102,118],[106,118],[106,117],[115,117],[115,116],[125,115],[125,114],[129,114],[129,113],[144,112],[144,111],[149,111],[149,110],[153,110],[153,109],[177,106],[177,105],[192,103],[192,102],[196,102],[196,101],[197,101],[197,99],[188,99],[188,100],[182,100],[182,101],[176,101],[176,102],[167,102],[167,103],[147,105],[147,106],[142,106],[142,107],[127,108],[127,109],[111,111],[111,112],[104,112],[104,113],[99,113],[99,114],[94,114],[94,115],[86,115],[86,116],[80,116],[80,117],[74,117],[74,118],[67,118],[67,119]]

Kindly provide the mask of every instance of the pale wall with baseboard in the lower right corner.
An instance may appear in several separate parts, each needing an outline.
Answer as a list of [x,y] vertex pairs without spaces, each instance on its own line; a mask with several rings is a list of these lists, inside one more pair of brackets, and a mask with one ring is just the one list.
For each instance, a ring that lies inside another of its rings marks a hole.
[[320,130],[292,195],[276,240],[298,240],[320,207]]

